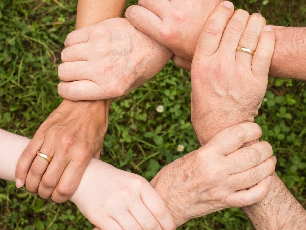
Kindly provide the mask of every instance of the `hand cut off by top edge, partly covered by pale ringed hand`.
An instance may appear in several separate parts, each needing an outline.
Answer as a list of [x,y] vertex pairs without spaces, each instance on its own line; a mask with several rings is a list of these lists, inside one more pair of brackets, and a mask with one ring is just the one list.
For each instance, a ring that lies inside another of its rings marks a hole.
[[[205,21],[222,0],[139,0],[125,16],[140,31],[168,47],[172,60],[190,70],[196,43]],[[232,3],[226,1],[224,4]]]

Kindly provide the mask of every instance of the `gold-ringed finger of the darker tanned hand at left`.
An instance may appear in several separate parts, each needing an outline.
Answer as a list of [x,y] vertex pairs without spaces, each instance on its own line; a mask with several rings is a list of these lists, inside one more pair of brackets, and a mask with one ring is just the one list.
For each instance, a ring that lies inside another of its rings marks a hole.
[[[54,152],[50,146],[52,145],[44,143],[39,151],[52,158]],[[38,193],[39,183],[49,164],[50,163],[46,159],[36,155],[28,172],[27,178],[25,179],[25,187],[30,193]]]

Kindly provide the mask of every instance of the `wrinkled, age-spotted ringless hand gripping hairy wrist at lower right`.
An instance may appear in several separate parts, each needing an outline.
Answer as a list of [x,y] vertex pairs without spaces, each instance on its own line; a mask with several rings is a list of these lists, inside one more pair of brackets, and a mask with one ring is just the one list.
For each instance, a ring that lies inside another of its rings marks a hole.
[[[205,146],[165,166],[151,185],[166,201],[176,226],[228,207],[247,206],[269,192],[276,157],[261,129],[243,123],[224,129]],[[240,148],[240,149],[239,149]]]

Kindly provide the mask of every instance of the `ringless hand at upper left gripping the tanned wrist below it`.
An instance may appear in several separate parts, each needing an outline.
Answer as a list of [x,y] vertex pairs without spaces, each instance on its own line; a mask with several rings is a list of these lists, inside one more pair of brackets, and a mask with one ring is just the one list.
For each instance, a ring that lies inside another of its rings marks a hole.
[[172,53],[125,18],[68,34],[58,93],[70,100],[120,97],[154,77]]

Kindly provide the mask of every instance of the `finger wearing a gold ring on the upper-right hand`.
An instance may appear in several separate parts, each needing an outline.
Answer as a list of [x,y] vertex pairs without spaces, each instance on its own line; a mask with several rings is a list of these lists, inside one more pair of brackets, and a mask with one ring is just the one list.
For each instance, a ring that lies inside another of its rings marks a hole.
[[[266,25],[266,20],[258,13],[250,16],[248,24],[242,33],[239,45],[251,50],[256,50],[258,40],[263,27]],[[242,51],[237,51],[236,61],[243,66],[251,66],[253,56]]]

